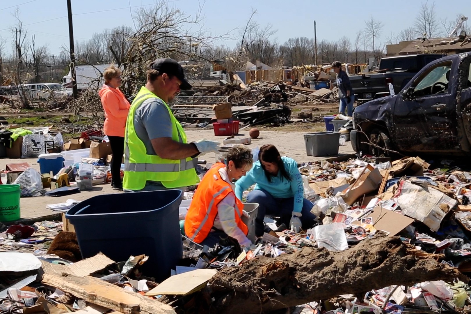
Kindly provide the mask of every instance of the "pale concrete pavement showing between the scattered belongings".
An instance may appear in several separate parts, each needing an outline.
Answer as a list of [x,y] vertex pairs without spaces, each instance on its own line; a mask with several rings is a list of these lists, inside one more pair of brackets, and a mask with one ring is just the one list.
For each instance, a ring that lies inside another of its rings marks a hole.
[[[224,137],[214,136],[213,130],[187,130],[188,141],[195,140],[218,140],[221,142]],[[304,144],[303,132],[281,132],[281,131],[263,131],[260,132],[260,138],[252,140],[252,143],[248,146],[250,148],[260,147],[265,144],[274,144],[282,156],[288,156],[295,159],[298,163],[316,161],[326,159],[328,157],[311,157],[306,155],[306,147]],[[242,137],[248,136],[248,130],[242,130],[240,135]],[[339,148],[339,154],[353,154],[354,151],[351,148],[350,142],[347,142],[344,146]],[[214,163],[216,156],[214,153],[204,155],[199,158],[208,161],[208,163]],[[0,158],[0,169],[4,169],[6,164],[23,162],[26,161],[32,168],[39,170],[37,158],[25,158],[25,159],[10,159]],[[52,210],[46,208],[47,204],[55,204],[65,202],[68,198],[76,200],[85,200],[87,198],[109,193],[122,193],[120,191],[114,191],[111,189],[110,184],[100,184],[94,186],[93,191],[82,191],[77,194],[72,194],[64,197],[34,197],[34,198],[21,198],[21,217],[25,219],[37,218],[41,216],[47,216],[54,214]]]

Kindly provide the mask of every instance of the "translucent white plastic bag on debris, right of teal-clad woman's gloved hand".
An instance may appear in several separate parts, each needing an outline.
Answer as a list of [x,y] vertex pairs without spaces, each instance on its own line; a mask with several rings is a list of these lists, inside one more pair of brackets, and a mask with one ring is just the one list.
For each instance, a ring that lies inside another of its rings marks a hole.
[[315,226],[306,232],[311,240],[317,241],[317,247],[329,251],[343,251],[349,248],[343,224],[330,223]]

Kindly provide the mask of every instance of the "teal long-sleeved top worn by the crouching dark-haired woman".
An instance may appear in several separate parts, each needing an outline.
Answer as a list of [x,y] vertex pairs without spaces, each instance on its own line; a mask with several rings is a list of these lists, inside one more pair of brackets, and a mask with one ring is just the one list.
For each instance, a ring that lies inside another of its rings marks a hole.
[[242,199],[242,192],[255,184],[255,190],[265,190],[274,198],[294,197],[293,211],[300,213],[304,200],[304,188],[298,164],[294,159],[288,157],[281,157],[281,160],[284,169],[291,176],[291,181],[286,180],[278,171],[278,175],[276,177],[272,176],[271,182],[268,182],[260,161],[257,161],[247,174],[235,182],[235,196]]

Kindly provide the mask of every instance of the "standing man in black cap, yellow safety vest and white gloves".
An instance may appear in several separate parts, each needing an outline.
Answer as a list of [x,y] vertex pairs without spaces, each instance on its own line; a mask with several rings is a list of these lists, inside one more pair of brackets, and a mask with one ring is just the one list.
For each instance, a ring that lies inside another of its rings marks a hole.
[[183,68],[173,59],[157,59],[147,70],[146,86],[134,98],[126,121],[125,191],[180,189],[199,182],[193,158],[219,153],[219,143],[187,143],[187,135],[167,102],[189,90]]

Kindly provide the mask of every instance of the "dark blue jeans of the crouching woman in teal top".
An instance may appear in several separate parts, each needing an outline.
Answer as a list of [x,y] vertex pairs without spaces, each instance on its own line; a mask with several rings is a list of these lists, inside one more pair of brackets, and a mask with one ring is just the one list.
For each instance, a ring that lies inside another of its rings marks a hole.
[[[247,196],[247,203],[258,203],[259,210],[257,218],[255,218],[255,235],[257,237],[263,236],[265,227],[263,225],[263,218],[265,215],[280,217],[278,222],[284,223],[289,228],[289,223],[292,217],[294,207],[294,198],[274,198],[270,193],[264,190],[253,190]],[[302,229],[307,230],[314,225],[316,215],[311,213],[314,205],[304,198],[302,203],[302,210],[300,217]]]

